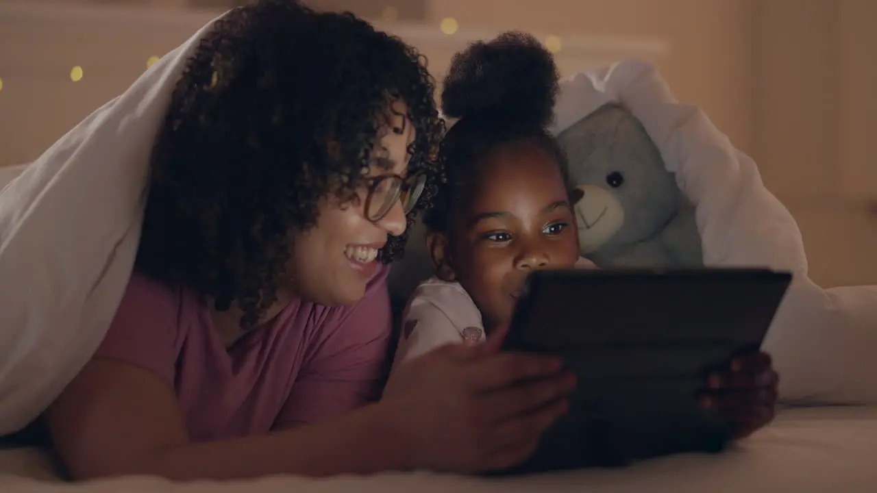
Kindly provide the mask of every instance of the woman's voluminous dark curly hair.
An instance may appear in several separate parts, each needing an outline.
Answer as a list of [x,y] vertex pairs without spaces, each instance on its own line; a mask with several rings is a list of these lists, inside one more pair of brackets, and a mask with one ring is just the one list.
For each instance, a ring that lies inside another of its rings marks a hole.
[[[444,125],[425,60],[350,13],[260,0],[217,20],[173,92],[151,155],[136,267],[144,275],[237,303],[252,328],[276,300],[290,232],[317,222],[320,200],[352,199],[404,102],[416,135],[409,171],[427,182],[409,225],[439,181]],[[400,256],[390,237],[380,261]]]

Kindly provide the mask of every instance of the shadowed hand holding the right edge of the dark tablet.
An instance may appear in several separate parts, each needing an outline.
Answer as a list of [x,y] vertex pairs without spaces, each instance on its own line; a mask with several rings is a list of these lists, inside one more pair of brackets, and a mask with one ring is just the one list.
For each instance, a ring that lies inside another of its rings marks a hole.
[[741,354],[727,368],[708,375],[700,404],[728,419],[734,438],[744,438],[774,419],[779,382],[770,355]]

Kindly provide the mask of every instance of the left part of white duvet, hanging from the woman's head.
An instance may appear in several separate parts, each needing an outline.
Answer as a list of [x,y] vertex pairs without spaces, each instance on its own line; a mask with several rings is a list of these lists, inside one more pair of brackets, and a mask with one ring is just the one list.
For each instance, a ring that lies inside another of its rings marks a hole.
[[36,418],[103,339],[131,275],[154,136],[208,28],[0,192],[0,435]]

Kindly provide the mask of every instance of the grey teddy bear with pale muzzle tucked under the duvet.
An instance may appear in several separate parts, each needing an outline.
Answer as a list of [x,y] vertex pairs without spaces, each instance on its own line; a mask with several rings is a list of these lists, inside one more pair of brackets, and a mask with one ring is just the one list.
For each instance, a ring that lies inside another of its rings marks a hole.
[[574,211],[582,256],[600,268],[703,265],[695,208],[623,104],[603,104],[558,140],[581,196]]

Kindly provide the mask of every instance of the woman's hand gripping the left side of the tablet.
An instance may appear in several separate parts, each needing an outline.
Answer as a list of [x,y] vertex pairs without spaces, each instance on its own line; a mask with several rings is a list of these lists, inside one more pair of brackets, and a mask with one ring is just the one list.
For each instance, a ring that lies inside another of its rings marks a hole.
[[439,347],[388,382],[382,404],[392,410],[410,468],[475,473],[515,466],[567,410],[575,381],[560,359],[500,353],[503,336]]

